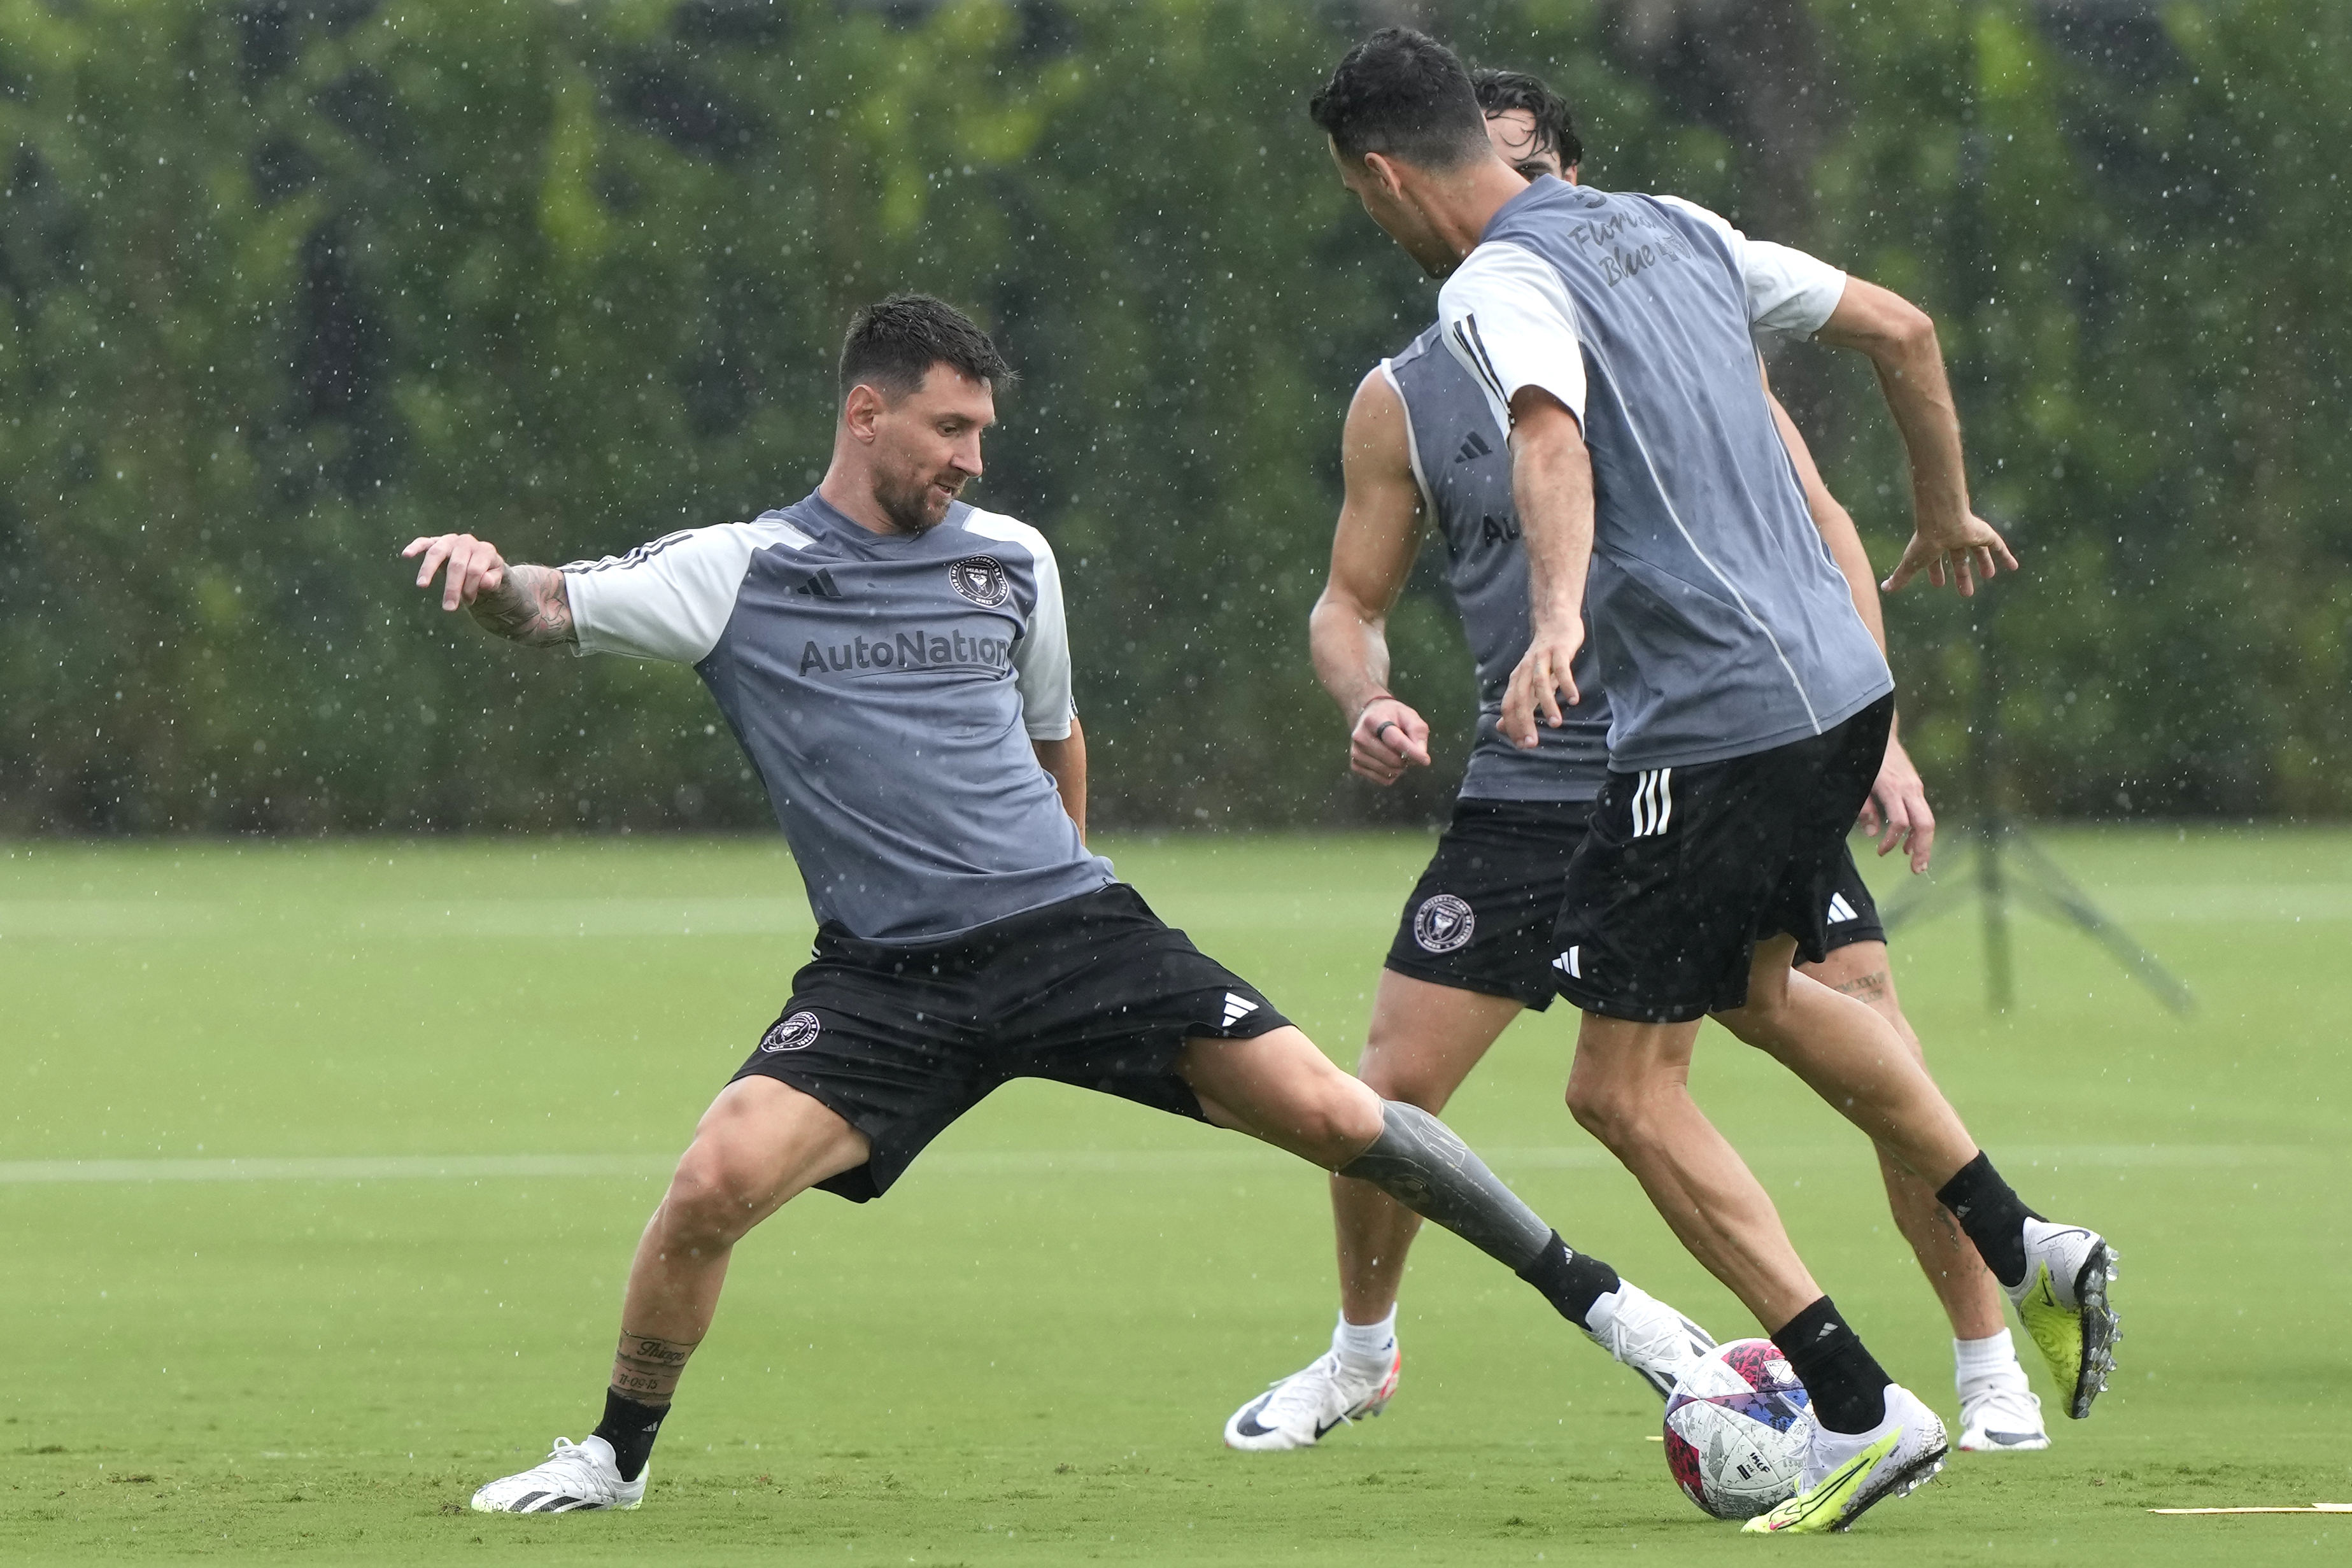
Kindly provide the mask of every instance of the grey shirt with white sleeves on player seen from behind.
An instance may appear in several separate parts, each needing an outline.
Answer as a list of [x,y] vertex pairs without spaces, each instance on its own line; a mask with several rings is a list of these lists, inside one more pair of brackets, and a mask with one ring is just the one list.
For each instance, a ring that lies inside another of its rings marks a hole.
[[1752,334],[1818,327],[1820,273],[1686,202],[1538,179],[1439,292],[1498,423],[1524,386],[1583,423],[1618,773],[1773,750],[1893,691],[1757,381]]

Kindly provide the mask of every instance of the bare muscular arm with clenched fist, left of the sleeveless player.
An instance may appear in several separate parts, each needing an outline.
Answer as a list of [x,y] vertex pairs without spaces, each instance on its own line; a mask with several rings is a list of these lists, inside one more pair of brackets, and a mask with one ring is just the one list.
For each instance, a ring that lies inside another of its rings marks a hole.
[[1348,766],[1378,785],[1430,762],[1430,726],[1388,691],[1388,611],[1414,571],[1423,524],[1406,440],[1404,400],[1371,371],[1348,404],[1348,494],[1331,534],[1331,581],[1308,616],[1315,677],[1348,719]]

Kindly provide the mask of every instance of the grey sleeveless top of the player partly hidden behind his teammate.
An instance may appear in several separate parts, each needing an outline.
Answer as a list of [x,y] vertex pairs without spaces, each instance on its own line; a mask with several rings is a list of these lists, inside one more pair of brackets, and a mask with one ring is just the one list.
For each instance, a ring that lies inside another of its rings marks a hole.
[[1463,799],[1585,802],[1609,771],[1609,698],[1588,646],[1576,656],[1576,708],[1559,729],[1538,724],[1522,752],[1496,731],[1503,689],[1526,654],[1526,550],[1510,501],[1510,442],[1486,393],[1430,327],[1381,371],[1404,402],[1406,454],[1421,503],[1446,541],[1446,585],[1477,663],[1477,741],[1463,769]]

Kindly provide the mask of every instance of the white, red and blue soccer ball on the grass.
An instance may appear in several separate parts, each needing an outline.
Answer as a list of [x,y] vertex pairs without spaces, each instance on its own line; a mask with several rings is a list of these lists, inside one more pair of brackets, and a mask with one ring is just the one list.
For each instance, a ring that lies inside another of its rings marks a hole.
[[1811,1399],[1771,1340],[1717,1345],[1665,1399],[1665,1467],[1717,1519],[1755,1519],[1797,1495]]

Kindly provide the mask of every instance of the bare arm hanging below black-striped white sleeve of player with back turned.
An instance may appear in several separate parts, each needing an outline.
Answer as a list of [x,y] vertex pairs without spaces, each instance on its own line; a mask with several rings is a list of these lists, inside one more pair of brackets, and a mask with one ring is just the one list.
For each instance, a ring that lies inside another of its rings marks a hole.
[[1585,571],[1592,567],[1592,454],[1564,402],[1541,386],[1510,397],[1510,496],[1526,548],[1531,637],[1503,693],[1503,736],[1536,745],[1536,717],[1557,726],[1559,693],[1583,701],[1569,668],[1585,644]]

